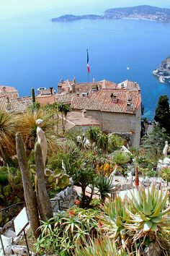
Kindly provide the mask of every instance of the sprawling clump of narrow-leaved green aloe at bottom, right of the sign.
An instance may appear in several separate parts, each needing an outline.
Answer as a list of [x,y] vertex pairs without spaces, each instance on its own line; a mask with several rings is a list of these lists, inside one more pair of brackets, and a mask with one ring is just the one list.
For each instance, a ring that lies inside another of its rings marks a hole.
[[97,236],[98,215],[98,210],[76,208],[57,213],[55,218],[42,222],[41,235],[35,244],[37,252],[73,255],[76,244]]

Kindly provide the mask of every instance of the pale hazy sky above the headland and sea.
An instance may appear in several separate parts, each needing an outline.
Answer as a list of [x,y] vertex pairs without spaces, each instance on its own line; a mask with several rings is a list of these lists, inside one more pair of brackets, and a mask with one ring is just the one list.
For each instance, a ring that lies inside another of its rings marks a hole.
[[[68,10],[79,9],[90,10],[90,7],[97,7],[97,10],[104,11],[110,7],[128,7],[140,4],[149,4],[158,7],[169,7],[169,0],[0,0],[0,20],[27,15],[34,12],[44,12],[50,9]],[[63,13],[63,14],[66,14]]]

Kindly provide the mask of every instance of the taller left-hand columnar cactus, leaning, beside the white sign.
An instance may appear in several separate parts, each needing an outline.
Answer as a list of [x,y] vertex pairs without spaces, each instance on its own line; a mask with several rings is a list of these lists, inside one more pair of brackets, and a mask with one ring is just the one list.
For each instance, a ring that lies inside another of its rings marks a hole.
[[27,157],[24,149],[24,142],[22,135],[18,132],[16,135],[16,146],[17,146],[17,158],[19,161],[19,167],[22,171],[22,183],[24,187],[24,200],[27,205],[28,216],[30,218],[30,225],[32,228],[33,235],[35,238],[39,236],[38,227],[40,226],[37,200],[35,192],[32,188],[32,182],[30,179],[30,172],[27,165]]

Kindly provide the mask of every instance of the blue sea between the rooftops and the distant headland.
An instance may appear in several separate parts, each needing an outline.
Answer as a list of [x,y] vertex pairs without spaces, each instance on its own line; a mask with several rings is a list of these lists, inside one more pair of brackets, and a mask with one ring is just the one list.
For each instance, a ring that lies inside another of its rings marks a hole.
[[54,10],[1,20],[0,85],[14,86],[25,96],[31,88],[56,89],[61,79],[76,77],[86,82],[88,48],[90,80],[138,82],[146,117],[153,118],[160,95],[170,98],[170,84],[161,84],[152,75],[170,55],[170,24],[148,20],[51,22],[53,17],[58,17]]

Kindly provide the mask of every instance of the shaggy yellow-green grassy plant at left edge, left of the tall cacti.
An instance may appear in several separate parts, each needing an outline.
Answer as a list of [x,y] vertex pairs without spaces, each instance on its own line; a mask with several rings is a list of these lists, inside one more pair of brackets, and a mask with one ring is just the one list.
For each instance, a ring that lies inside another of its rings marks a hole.
[[0,157],[6,161],[7,156],[16,154],[15,133],[17,119],[14,114],[0,111]]

